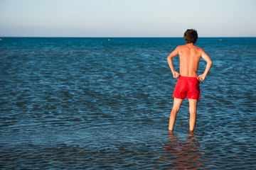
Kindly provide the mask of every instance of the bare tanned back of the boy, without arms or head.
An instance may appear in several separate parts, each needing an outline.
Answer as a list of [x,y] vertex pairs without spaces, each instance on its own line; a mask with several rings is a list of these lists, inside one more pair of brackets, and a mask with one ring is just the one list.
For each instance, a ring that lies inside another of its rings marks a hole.
[[180,58],[180,74],[183,77],[198,77],[198,64],[203,50],[192,44],[177,47]]

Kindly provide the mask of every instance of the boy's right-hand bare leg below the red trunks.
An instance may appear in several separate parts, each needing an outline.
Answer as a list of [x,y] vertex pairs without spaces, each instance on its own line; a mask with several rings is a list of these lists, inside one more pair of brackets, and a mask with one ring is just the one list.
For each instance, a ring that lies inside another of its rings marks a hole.
[[196,108],[197,108],[198,100],[188,98],[188,103],[189,103],[189,113],[190,113],[189,131],[193,132],[196,126]]

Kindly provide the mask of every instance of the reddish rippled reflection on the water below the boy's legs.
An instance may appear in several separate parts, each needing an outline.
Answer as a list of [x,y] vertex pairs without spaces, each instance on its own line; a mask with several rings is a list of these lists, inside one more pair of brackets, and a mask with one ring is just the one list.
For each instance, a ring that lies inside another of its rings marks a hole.
[[169,132],[169,142],[164,145],[166,155],[161,159],[170,169],[200,169],[203,151],[199,148],[195,133],[191,132],[187,140],[181,140],[174,132]]

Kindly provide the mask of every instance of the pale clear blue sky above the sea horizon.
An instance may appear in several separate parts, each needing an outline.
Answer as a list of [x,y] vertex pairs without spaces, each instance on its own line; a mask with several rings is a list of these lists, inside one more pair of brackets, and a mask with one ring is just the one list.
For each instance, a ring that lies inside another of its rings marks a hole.
[[256,0],[0,0],[0,37],[256,37]]

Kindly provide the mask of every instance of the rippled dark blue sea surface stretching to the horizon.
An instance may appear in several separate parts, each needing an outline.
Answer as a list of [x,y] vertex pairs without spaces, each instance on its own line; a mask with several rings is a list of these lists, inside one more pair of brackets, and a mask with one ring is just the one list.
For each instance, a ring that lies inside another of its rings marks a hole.
[[1,38],[0,169],[256,169],[256,38],[198,38],[213,66],[196,128],[186,99],[171,133],[183,44]]

